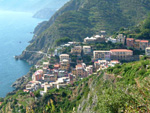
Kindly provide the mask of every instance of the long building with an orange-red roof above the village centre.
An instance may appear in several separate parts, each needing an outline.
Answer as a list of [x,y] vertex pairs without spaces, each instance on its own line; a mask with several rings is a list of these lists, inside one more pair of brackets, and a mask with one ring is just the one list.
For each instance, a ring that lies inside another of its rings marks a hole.
[[111,59],[112,60],[125,60],[129,61],[132,60],[133,51],[127,49],[112,49],[111,52]]

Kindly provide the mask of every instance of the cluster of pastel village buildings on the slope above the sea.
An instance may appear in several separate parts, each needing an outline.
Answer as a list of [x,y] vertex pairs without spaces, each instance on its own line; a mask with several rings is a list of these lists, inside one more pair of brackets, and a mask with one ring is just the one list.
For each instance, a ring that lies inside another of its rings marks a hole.
[[[122,62],[139,60],[141,55],[134,55],[131,49],[110,49],[95,50],[96,43],[111,42],[121,43],[126,48],[145,51],[145,55],[150,56],[150,43],[148,40],[135,40],[127,38],[123,34],[118,34],[116,38],[107,38],[106,31],[101,31],[100,35],[91,38],[87,37],[84,42],[68,42],[56,47],[50,55],[49,60],[43,60],[35,65],[36,71],[32,75],[32,80],[28,82],[24,92],[32,92],[38,89],[40,95],[44,95],[52,88],[66,87],[79,79],[90,76],[99,70],[105,70]],[[70,48],[63,51],[64,48]]]

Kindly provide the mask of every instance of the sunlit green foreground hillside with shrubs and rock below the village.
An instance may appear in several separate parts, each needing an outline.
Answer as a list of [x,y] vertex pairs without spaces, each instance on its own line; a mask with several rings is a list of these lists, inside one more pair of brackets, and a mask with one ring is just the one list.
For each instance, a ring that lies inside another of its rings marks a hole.
[[21,113],[120,113],[142,112],[150,109],[150,61],[116,65],[97,72],[66,88],[49,90],[37,98],[18,91],[8,95],[1,112]]

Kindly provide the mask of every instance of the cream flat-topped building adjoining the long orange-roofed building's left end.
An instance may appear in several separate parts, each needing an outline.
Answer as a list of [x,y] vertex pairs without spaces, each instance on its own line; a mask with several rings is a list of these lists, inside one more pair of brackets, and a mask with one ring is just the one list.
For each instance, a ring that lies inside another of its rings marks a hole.
[[110,60],[110,51],[94,51],[93,58],[94,60]]

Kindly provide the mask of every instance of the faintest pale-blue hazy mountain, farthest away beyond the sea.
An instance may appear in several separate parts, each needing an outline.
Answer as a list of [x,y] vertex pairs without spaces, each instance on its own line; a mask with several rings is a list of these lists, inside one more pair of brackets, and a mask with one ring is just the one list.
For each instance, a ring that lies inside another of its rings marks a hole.
[[59,9],[68,0],[0,0],[0,10],[32,11],[43,8]]

